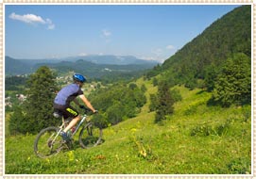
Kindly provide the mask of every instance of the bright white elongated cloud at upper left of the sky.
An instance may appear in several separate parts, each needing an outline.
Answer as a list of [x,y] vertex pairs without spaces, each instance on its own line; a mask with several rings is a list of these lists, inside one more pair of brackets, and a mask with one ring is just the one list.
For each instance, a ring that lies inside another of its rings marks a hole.
[[53,24],[50,19],[43,20],[41,16],[38,16],[35,14],[19,15],[19,14],[16,14],[15,12],[12,12],[9,15],[9,18],[12,20],[21,21],[27,24],[46,24],[48,25],[48,29],[50,30],[55,28],[55,24]]

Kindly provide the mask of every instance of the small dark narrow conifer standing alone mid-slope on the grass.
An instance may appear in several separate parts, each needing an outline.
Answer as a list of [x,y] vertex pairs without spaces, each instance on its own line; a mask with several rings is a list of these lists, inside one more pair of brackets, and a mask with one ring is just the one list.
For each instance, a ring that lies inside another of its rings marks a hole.
[[158,103],[156,110],[155,122],[162,122],[166,120],[166,115],[172,114],[174,112],[174,103],[169,86],[166,82],[162,82],[158,89]]

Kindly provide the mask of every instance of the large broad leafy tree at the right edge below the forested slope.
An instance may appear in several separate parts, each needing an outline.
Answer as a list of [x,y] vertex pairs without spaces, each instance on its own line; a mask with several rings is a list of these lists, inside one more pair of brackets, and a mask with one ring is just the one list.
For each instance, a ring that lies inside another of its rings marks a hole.
[[250,104],[250,58],[243,53],[228,58],[217,76],[213,89],[213,101],[222,106]]

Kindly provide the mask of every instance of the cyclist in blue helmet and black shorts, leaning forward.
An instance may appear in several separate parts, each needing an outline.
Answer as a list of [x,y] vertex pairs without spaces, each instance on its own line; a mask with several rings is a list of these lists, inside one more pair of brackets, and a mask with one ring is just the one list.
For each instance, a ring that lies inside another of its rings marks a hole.
[[77,101],[77,96],[83,101],[83,103],[88,106],[94,113],[97,112],[94,109],[94,106],[91,105],[89,100],[84,96],[83,91],[81,90],[81,87],[83,86],[84,82],[86,81],[86,78],[81,74],[74,74],[73,75],[74,83],[71,85],[68,85],[57,93],[57,96],[54,100],[54,110],[61,112],[64,119],[72,118],[73,120],[69,122],[69,124],[64,128],[63,131],[60,132],[60,136],[63,138],[63,140],[67,141],[69,140],[69,137],[67,135],[67,131],[71,129],[73,126],[76,125],[76,123],[80,120],[80,115],[78,114],[77,110],[70,106],[70,103],[72,101],[75,102],[77,106],[80,108],[84,108],[84,106],[81,106]]

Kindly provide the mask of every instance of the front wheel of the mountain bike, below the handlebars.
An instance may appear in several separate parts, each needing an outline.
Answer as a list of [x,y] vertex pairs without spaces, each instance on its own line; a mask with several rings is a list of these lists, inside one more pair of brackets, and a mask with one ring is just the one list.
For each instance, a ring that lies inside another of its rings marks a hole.
[[93,122],[86,124],[79,133],[80,146],[83,149],[88,149],[101,144],[102,133],[102,129],[94,126]]

